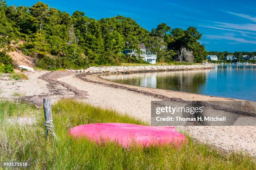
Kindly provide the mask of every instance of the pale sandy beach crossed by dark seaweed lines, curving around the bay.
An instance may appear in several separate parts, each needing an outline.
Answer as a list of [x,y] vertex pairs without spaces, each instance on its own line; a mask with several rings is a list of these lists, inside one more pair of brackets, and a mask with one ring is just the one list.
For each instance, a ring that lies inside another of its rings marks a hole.
[[[100,78],[100,74],[71,71],[35,71],[25,74],[29,80],[8,80],[8,75],[2,77],[0,99],[23,100],[40,107],[43,97],[50,97],[53,102],[61,98],[75,98],[98,107],[117,110],[146,122],[151,120],[151,101],[233,100],[122,85],[104,80]],[[14,96],[15,92],[20,93],[20,96]],[[256,155],[256,126],[179,126],[177,129],[220,150],[242,150],[244,153]]]

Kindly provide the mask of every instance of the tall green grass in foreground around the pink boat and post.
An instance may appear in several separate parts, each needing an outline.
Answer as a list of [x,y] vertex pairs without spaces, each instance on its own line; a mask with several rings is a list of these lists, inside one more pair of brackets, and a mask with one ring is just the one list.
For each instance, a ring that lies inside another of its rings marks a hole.
[[[7,103],[7,104],[6,104]],[[21,108],[21,109],[18,109]],[[0,102],[0,114],[14,116],[34,108],[13,102]],[[21,111],[23,110],[23,111]],[[35,111],[35,110],[34,110]],[[241,153],[221,153],[215,148],[195,142],[188,145],[124,149],[115,143],[97,144],[86,139],[73,139],[69,129],[87,123],[125,122],[146,125],[127,115],[101,109],[74,100],[61,100],[52,105],[57,142],[54,148],[44,135],[43,112],[33,126],[0,124],[0,161],[28,160],[30,169],[237,169],[254,170],[255,159]],[[33,112],[37,114],[38,112]],[[5,117],[6,118],[6,117]]]

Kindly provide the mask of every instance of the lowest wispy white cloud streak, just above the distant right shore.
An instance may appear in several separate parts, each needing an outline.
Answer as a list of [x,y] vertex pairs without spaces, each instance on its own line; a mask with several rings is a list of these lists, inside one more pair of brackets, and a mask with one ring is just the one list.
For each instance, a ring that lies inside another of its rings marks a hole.
[[227,35],[205,35],[206,38],[212,39],[212,40],[233,40],[236,42],[243,42],[247,44],[256,44],[256,41],[251,41],[251,40],[246,40],[243,38],[237,38],[234,37],[232,34],[227,34]]

